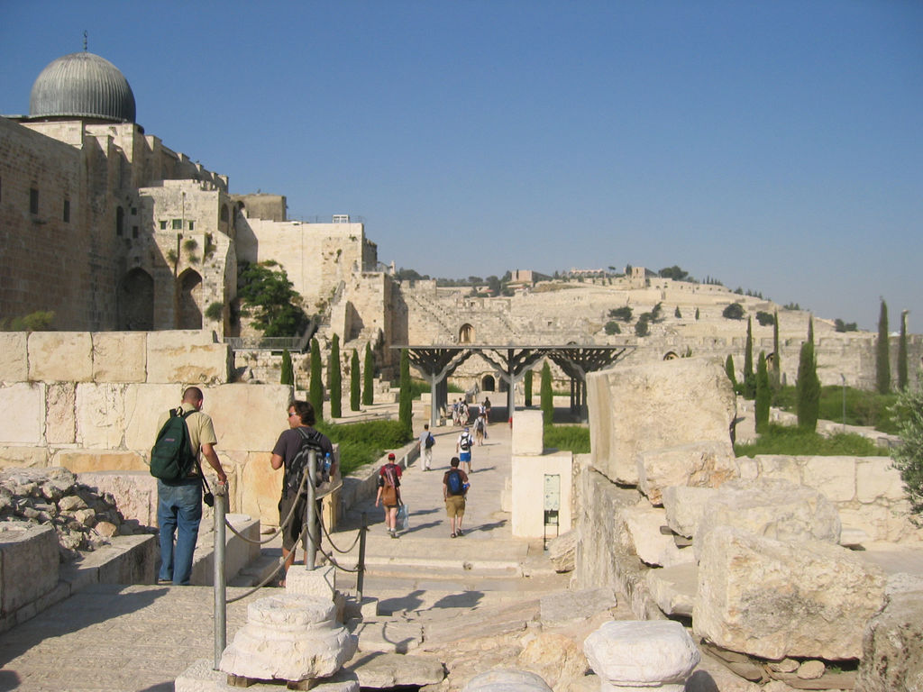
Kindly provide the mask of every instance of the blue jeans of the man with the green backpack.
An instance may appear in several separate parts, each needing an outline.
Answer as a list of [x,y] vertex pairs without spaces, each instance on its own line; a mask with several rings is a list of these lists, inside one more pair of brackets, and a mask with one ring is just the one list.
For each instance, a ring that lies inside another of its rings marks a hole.
[[171,484],[157,482],[157,524],[161,530],[159,579],[188,586],[201,519],[202,482],[198,478]]

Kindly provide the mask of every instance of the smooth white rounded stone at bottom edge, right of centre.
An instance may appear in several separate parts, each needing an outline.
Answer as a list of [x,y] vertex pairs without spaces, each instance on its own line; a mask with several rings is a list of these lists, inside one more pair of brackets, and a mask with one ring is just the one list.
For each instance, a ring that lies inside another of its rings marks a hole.
[[689,633],[671,620],[605,623],[586,638],[583,652],[603,689],[681,692],[701,658]]

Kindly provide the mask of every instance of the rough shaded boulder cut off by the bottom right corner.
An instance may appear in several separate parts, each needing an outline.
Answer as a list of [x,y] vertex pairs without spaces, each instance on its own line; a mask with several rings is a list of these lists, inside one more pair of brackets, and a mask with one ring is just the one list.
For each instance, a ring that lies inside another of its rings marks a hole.
[[869,620],[856,692],[923,690],[923,588],[893,592]]

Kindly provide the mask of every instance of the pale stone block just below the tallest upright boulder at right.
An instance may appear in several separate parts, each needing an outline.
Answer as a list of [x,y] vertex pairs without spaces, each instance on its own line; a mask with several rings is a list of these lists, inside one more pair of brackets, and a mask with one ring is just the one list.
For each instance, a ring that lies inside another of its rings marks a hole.
[[716,488],[739,473],[730,439],[648,449],[638,455],[638,487],[654,505],[663,503],[669,485]]

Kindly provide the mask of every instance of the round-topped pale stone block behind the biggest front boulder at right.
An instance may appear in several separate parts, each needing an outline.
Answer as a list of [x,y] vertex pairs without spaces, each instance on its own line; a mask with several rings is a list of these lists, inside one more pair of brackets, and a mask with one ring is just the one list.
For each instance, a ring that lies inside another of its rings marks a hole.
[[778,541],[840,542],[840,517],[830,500],[806,485],[781,480],[731,481],[705,505],[693,545],[730,526]]

